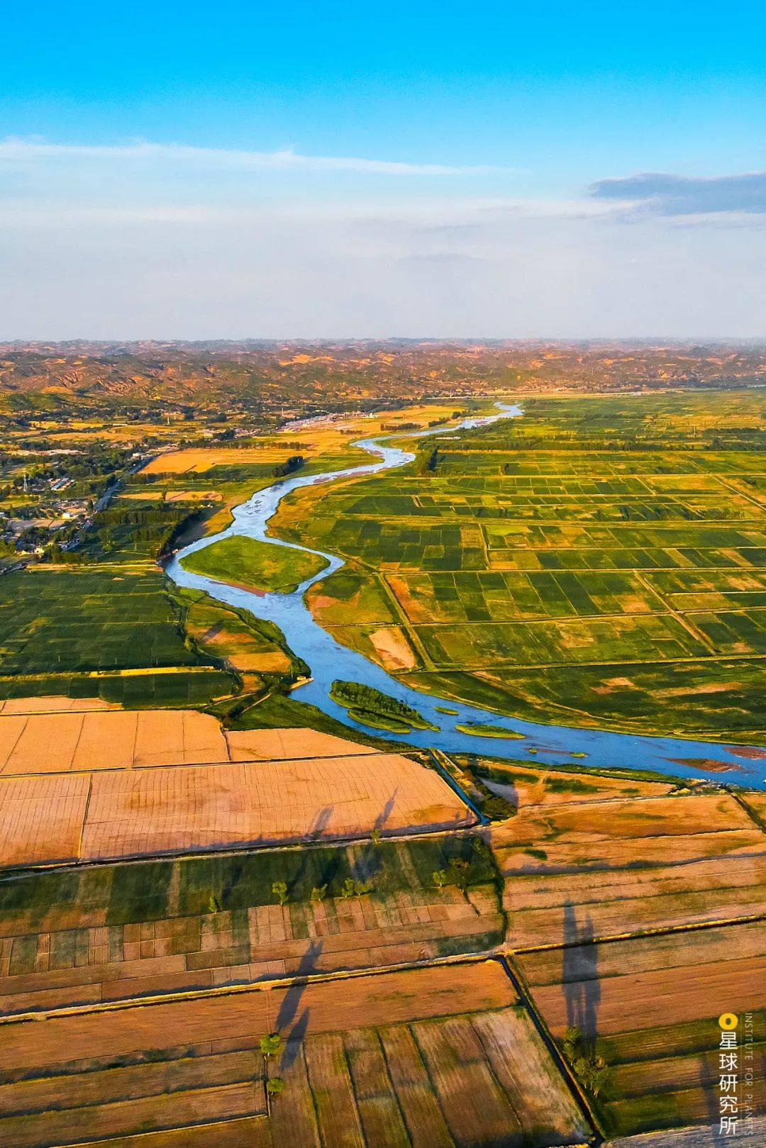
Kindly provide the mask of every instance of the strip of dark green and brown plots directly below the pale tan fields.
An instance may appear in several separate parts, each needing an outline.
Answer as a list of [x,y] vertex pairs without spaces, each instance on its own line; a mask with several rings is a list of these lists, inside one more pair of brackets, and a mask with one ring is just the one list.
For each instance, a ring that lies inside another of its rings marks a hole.
[[[6,875],[0,1013],[486,951],[504,918],[478,843],[428,836]],[[433,884],[451,858],[466,861],[465,892]],[[364,879],[350,897],[348,878]]]

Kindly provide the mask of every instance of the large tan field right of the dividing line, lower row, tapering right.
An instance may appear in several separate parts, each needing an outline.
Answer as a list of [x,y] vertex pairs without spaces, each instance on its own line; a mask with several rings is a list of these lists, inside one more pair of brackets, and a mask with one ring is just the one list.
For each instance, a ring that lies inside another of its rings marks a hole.
[[395,754],[94,774],[83,859],[467,824],[431,770]]

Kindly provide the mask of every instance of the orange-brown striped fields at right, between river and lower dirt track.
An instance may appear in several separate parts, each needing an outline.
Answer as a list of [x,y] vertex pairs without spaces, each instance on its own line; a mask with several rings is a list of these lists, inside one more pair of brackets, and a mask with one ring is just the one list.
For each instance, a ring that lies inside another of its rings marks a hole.
[[763,831],[728,793],[527,806],[492,832],[514,947],[766,912]]

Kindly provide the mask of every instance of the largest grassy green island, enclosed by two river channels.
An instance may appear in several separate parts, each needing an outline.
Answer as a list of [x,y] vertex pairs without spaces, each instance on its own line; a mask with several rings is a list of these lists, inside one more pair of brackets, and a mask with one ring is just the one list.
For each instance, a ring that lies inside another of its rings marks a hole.
[[184,558],[181,566],[222,582],[291,594],[327,565],[318,554],[233,535]]

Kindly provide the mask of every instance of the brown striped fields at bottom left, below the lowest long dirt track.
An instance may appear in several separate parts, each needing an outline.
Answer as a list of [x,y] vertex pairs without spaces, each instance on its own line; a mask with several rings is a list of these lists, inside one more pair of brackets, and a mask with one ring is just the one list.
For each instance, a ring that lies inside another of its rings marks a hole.
[[[274,1027],[287,1045],[270,1071],[285,1091],[265,1118],[254,1048]],[[139,1128],[169,1130],[141,1143],[195,1145],[181,1127],[202,1120],[226,1122],[206,1146],[255,1148],[543,1148],[590,1134],[496,962],[2,1029],[3,1148],[71,1143],[83,1132],[130,1145]],[[231,1138],[217,1139],[224,1128]]]

